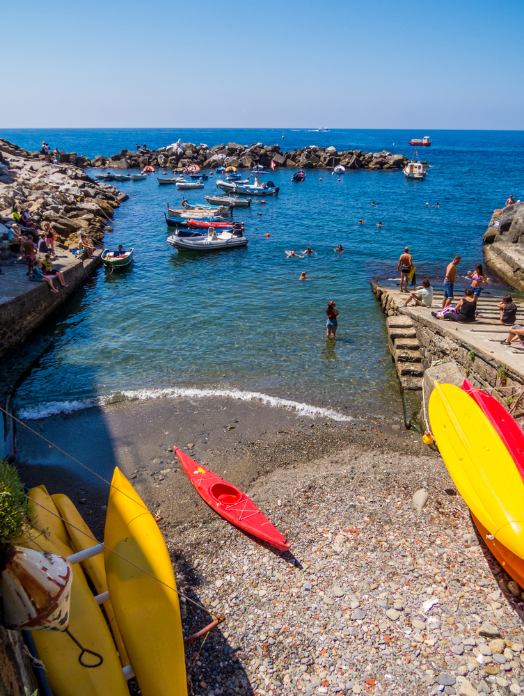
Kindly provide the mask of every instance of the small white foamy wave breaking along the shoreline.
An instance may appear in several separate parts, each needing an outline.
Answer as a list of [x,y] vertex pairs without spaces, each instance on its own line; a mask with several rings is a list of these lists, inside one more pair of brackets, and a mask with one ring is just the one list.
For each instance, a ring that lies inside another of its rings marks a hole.
[[100,397],[91,397],[84,400],[75,401],[52,401],[45,404],[33,404],[25,406],[17,413],[21,420],[38,420],[38,418],[48,418],[56,416],[58,413],[74,413],[83,409],[92,409],[94,406],[107,406],[122,401],[146,401],[154,399],[175,399],[177,397],[187,397],[193,399],[203,399],[206,397],[229,397],[239,401],[258,401],[263,405],[273,406],[274,408],[296,411],[297,416],[321,416],[332,420],[353,420],[335,409],[328,409],[321,406],[312,406],[291,399],[280,399],[279,397],[269,396],[262,392],[242,391],[240,389],[197,389],[197,388],[178,388],[166,387],[164,389],[133,389],[121,392],[114,392]]

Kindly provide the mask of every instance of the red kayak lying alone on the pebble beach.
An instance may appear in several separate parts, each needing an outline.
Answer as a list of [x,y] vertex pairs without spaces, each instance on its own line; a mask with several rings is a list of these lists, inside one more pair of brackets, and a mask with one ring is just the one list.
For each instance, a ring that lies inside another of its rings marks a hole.
[[202,464],[198,464],[177,447],[174,450],[191,483],[209,507],[235,527],[239,527],[253,537],[269,541],[271,546],[287,551],[291,546],[289,541],[286,541],[269,519],[264,517],[246,493],[242,493],[236,486],[224,481]]

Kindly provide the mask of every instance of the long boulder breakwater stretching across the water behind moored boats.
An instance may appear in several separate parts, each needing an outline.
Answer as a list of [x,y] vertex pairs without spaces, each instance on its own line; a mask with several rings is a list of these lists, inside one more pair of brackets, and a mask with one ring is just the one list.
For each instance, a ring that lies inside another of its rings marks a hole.
[[[6,141],[0,141],[6,143]],[[16,145],[7,143],[13,151],[20,152]],[[16,148],[16,149],[15,149]],[[6,150],[4,150],[6,151]],[[25,152],[25,151],[24,151]],[[45,159],[40,152],[27,152],[35,160]],[[185,168],[190,164],[198,164],[205,169],[216,169],[219,166],[234,166],[251,169],[256,164],[269,167],[271,162],[276,167],[289,168],[330,168],[342,164],[346,169],[401,169],[408,161],[404,155],[392,155],[391,152],[363,152],[362,150],[338,151],[333,146],[319,148],[309,145],[300,150],[281,150],[280,145],[208,145],[200,143],[182,143],[181,140],[158,150],[121,150],[111,157],[97,155],[93,160],[77,155],[75,152],[60,152],[61,164],[73,164],[78,167],[112,167],[116,169],[143,168],[145,166],[164,168]]]

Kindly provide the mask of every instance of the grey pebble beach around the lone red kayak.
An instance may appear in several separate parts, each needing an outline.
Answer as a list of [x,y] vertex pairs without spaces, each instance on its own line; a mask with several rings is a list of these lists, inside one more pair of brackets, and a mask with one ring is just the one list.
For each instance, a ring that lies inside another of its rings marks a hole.
[[[418,436],[219,398],[117,404],[30,425],[104,477],[118,464],[160,514],[187,598],[184,634],[225,616],[186,648],[189,693],[522,693],[523,601]],[[19,429],[18,442],[20,459],[33,462],[21,466],[23,480],[84,500],[101,537],[106,485],[33,434]],[[173,460],[173,444],[252,496],[290,551],[219,519]],[[420,487],[429,500],[418,515]]]

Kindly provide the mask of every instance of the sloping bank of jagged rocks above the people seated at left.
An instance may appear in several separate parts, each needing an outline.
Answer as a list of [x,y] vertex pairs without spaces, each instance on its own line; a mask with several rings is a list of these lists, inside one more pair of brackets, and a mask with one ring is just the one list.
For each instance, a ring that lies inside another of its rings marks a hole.
[[78,164],[47,163],[38,152],[0,139],[0,223],[12,223],[14,214],[25,210],[37,228],[49,222],[66,246],[76,245],[77,232],[100,241],[127,195],[91,179],[81,168],[89,160],[79,159]]

